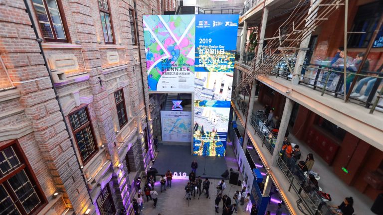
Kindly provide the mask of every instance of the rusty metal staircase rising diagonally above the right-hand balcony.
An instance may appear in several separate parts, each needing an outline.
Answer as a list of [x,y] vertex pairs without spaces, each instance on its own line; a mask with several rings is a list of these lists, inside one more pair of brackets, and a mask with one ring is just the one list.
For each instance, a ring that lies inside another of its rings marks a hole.
[[[252,60],[251,68],[244,71],[232,97],[237,97],[258,76],[269,75],[278,62],[287,62],[287,56],[296,54],[301,42],[341,5],[344,0],[301,0],[274,36],[268,39],[262,52]],[[287,62],[290,73],[293,73],[290,64]]]

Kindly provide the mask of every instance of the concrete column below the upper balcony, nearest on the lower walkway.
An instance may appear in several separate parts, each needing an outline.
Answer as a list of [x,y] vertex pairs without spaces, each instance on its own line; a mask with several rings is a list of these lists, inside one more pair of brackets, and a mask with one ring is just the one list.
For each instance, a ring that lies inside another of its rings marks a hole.
[[294,102],[289,98],[286,98],[285,108],[283,109],[283,115],[281,119],[281,125],[279,126],[279,132],[277,136],[277,142],[275,143],[275,148],[272,157],[272,165],[277,166],[279,149],[282,147],[283,139],[285,137],[286,129],[289,125],[289,120],[291,112],[293,110]]

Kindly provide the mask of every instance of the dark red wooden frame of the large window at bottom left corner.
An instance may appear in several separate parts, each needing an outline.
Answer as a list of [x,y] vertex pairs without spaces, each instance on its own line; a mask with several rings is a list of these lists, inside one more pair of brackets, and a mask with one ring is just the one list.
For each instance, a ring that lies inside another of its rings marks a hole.
[[13,169],[10,173],[5,174],[4,176],[2,176],[3,175],[2,173],[0,173],[1,174],[0,175],[0,185],[2,185],[4,187],[5,191],[8,193],[8,195],[12,199],[12,201],[14,201],[14,199],[18,200],[18,198],[14,192],[9,192],[9,190],[12,191],[12,188],[10,187],[9,183],[5,183],[5,182],[8,179],[10,179],[12,176],[14,176],[17,173],[24,170],[26,176],[29,179],[29,182],[35,188],[34,190],[35,190],[38,198],[40,199],[40,204],[35,209],[33,209],[29,214],[27,214],[24,211],[23,206],[21,206],[21,204],[18,201],[16,201],[14,205],[16,206],[16,209],[18,210],[18,212],[20,212],[21,215],[37,215],[48,204],[48,200],[46,199],[44,192],[42,191],[42,188],[41,188],[40,184],[38,183],[36,175],[34,174],[32,167],[30,166],[30,164],[28,162],[27,157],[25,156],[25,153],[23,152],[23,150],[20,146],[20,143],[17,140],[13,140],[13,141],[11,141],[11,142],[3,145],[3,146],[0,146],[0,151],[4,150],[5,148],[8,148],[10,146],[13,146],[12,149],[13,149],[15,155],[17,156],[17,158],[19,159],[20,165],[18,167],[16,167],[15,169]]

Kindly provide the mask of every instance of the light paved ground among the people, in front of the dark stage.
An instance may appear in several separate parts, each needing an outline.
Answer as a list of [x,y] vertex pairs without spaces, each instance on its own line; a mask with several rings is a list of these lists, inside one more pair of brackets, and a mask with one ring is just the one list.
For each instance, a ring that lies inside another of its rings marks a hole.
[[[214,194],[216,189],[215,185],[218,184],[217,179],[210,180],[210,199],[206,199],[205,195],[201,195],[198,200],[197,196],[192,197],[190,205],[188,206],[188,200],[185,197],[185,186],[188,181],[186,180],[173,180],[172,188],[168,188],[163,193],[160,192],[160,185],[156,183],[155,190],[159,193],[157,208],[153,208],[153,201],[149,200],[146,202],[144,196],[144,210],[142,215],[218,215],[214,212]],[[232,198],[234,192],[239,190],[240,187],[235,185],[226,185],[226,190],[223,194],[229,194]],[[222,213],[222,202],[219,204],[219,214]],[[245,213],[239,210],[238,215],[248,215],[249,212]]]

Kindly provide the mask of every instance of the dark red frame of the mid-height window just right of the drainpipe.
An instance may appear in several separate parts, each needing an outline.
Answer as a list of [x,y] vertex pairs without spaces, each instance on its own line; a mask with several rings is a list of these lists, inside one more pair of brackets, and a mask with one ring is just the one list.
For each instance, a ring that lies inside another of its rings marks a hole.
[[[80,127],[78,127],[77,129],[73,129],[73,126],[72,126],[72,123],[70,122],[70,115],[73,115],[74,113],[82,110],[82,109],[85,109],[85,112],[86,112],[86,116],[88,117],[88,122],[86,122],[85,124],[81,125]],[[73,110],[72,112],[70,112],[68,114],[68,121],[69,121],[69,124],[70,124],[70,127],[72,129],[72,134],[73,134],[73,139],[76,141],[76,146],[77,146],[77,150],[79,152],[79,155],[80,155],[80,159],[82,161],[82,164],[83,166],[85,166],[90,160],[92,160],[92,158],[97,154],[97,152],[99,151],[98,149],[98,145],[97,145],[97,142],[96,142],[96,137],[94,135],[94,131],[93,131],[93,124],[92,124],[92,119],[90,117],[90,114],[89,114],[89,109],[88,109],[88,106],[87,105],[82,105],[80,106],[79,108],[76,108],[75,110]],[[81,131],[82,129],[84,129],[86,126],[89,125],[89,128],[90,128],[90,132],[92,134],[92,138],[93,138],[93,143],[94,143],[94,152],[92,154],[90,154],[88,156],[87,159],[83,159],[82,158],[82,155],[81,155],[81,150],[80,150],[80,147],[78,146],[78,142],[77,142],[77,138],[76,138],[76,133]]]

